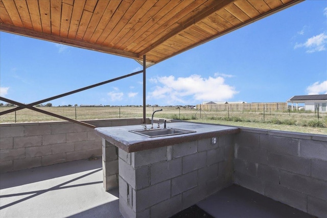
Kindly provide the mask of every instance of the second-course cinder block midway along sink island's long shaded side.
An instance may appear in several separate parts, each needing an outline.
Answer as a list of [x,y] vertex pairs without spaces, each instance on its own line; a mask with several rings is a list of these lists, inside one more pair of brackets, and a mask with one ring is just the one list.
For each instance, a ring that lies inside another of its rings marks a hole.
[[205,167],[206,152],[204,151],[204,152],[184,156],[182,159],[183,159],[182,172],[183,174],[189,173],[191,171],[195,171],[196,169]]

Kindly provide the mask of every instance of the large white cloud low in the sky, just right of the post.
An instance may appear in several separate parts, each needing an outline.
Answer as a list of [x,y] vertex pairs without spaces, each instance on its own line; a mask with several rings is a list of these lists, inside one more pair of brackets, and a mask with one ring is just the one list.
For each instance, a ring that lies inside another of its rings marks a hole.
[[202,78],[200,75],[190,77],[157,77],[150,79],[158,84],[149,92],[148,99],[162,100],[168,104],[188,103],[192,101],[225,101],[238,93],[234,87],[225,84],[222,77]]

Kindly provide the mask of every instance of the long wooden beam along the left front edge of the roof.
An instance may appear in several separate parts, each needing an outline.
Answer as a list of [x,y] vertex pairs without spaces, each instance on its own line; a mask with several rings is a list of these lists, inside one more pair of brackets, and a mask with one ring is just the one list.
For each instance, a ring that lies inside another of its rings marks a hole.
[[0,23],[0,31],[14,33],[14,34],[22,35],[22,36],[28,36],[28,37],[42,39],[42,40],[56,42],[56,43],[61,43],[61,44],[66,44],[66,45],[71,45],[71,46],[75,46],[75,47],[80,47],[82,49],[88,49],[88,50],[92,50],[92,51],[103,52],[103,53],[107,53],[107,54],[119,55],[119,56],[123,56],[123,57],[127,57],[127,58],[142,60],[142,57],[138,57],[138,55],[136,53],[127,52],[127,51],[123,51],[123,50],[119,50],[119,49],[112,49],[110,47],[105,47],[105,46],[101,46],[101,45],[97,45],[97,44],[91,44],[88,42],[78,41],[75,39],[68,39],[68,38],[57,36],[57,35],[41,33],[41,32],[37,32],[34,30],[15,27],[15,26],[8,25],[5,23]]

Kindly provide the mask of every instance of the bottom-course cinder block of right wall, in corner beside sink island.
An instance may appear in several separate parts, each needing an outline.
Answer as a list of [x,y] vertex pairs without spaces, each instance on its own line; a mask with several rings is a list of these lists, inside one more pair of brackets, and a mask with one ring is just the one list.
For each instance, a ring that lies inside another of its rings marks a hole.
[[264,182],[257,177],[235,172],[235,183],[261,195],[265,194]]

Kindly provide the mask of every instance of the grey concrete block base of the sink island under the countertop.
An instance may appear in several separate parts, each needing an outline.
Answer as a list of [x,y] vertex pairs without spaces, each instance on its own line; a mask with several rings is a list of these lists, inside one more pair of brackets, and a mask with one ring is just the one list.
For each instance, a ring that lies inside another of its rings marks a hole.
[[134,153],[119,149],[124,217],[169,217],[233,183],[234,135]]

